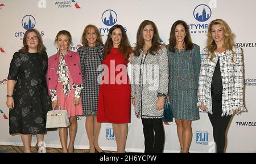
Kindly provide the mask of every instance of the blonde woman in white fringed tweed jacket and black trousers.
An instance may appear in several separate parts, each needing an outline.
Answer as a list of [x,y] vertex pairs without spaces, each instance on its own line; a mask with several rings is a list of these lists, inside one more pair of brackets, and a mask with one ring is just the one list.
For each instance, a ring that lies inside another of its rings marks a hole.
[[224,152],[225,133],[231,115],[245,111],[243,104],[242,49],[221,19],[210,22],[207,47],[203,50],[197,106],[208,113],[217,152]]

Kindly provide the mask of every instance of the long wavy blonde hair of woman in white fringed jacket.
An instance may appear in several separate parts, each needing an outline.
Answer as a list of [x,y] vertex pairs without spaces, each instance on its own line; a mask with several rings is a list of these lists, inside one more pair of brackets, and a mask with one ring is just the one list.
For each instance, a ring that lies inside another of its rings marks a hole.
[[215,57],[214,51],[217,49],[217,45],[216,42],[213,40],[212,38],[212,26],[216,25],[216,24],[220,24],[221,27],[224,30],[224,45],[223,48],[225,48],[226,50],[231,50],[233,55],[232,55],[232,61],[234,62],[234,55],[236,55],[236,53],[233,51],[233,46],[234,44],[234,33],[232,33],[229,25],[226,23],[226,21],[222,20],[222,19],[215,19],[213,21],[210,22],[209,27],[208,27],[208,33],[207,33],[207,50],[208,50],[208,58],[210,56],[210,61],[213,62],[213,58]]

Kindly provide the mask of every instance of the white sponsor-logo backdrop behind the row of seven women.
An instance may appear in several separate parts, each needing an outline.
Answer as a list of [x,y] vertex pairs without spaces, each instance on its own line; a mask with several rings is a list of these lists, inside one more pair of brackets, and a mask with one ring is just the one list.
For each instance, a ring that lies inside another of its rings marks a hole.
[[[152,20],[158,27],[162,44],[168,44],[171,25],[176,20],[187,22],[192,41],[205,47],[208,24],[224,19],[236,34],[236,44],[243,48],[245,59],[245,104],[247,111],[235,115],[229,126],[226,152],[256,152],[256,1],[187,1],[187,0],[5,0],[0,1],[0,145],[22,145],[20,135],[9,135],[9,109],[6,107],[7,74],[11,58],[22,46],[24,32],[36,28],[43,37],[48,56],[56,53],[57,32],[62,29],[72,34],[71,50],[81,46],[81,35],[86,25],[94,24],[106,40],[114,24],[125,27],[131,45],[136,42],[139,24]],[[130,66],[129,66],[130,68]],[[85,132],[85,118],[78,117],[75,148],[89,148]],[[166,140],[164,152],[180,149],[176,124],[164,124]],[[212,126],[206,113],[192,122],[193,139],[190,152],[213,152]],[[48,147],[61,147],[59,133],[49,131],[44,138]],[[32,137],[32,145],[36,137]],[[116,150],[112,124],[102,123],[99,144],[104,150]],[[127,136],[127,152],[143,152],[144,137],[141,119],[131,108],[131,123]]]

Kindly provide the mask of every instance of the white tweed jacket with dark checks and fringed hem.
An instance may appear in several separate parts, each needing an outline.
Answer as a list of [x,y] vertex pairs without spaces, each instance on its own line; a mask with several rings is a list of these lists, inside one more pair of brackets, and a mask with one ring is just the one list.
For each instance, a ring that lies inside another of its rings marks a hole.
[[197,106],[201,103],[207,106],[207,112],[212,114],[212,96],[210,94],[210,87],[212,83],[212,76],[220,58],[220,70],[222,79],[222,115],[232,115],[236,109],[245,111],[243,104],[243,54],[242,49],[238,46],[233,47],[236,53],[232,61],[232,51],[226,50],[222,53],[215,52],[213,62],[208,58],[207,49],[203,50],[201,68],[199,75],[199,91]]

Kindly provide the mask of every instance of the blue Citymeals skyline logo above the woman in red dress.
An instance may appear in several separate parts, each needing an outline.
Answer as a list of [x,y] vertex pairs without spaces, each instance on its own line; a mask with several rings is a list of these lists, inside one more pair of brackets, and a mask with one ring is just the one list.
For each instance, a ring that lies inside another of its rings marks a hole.
[[[111,9],[105,10],[101,15],[101,21],[104,25],[108,26],[108,27],[98,28],[100,30],[101,36],[108,37],[109,29],[111,28],[111,26],[117,23],[117,12]],[[125,28],[125,32],[126,32],[127,28],[124,26],[123,28]]]

